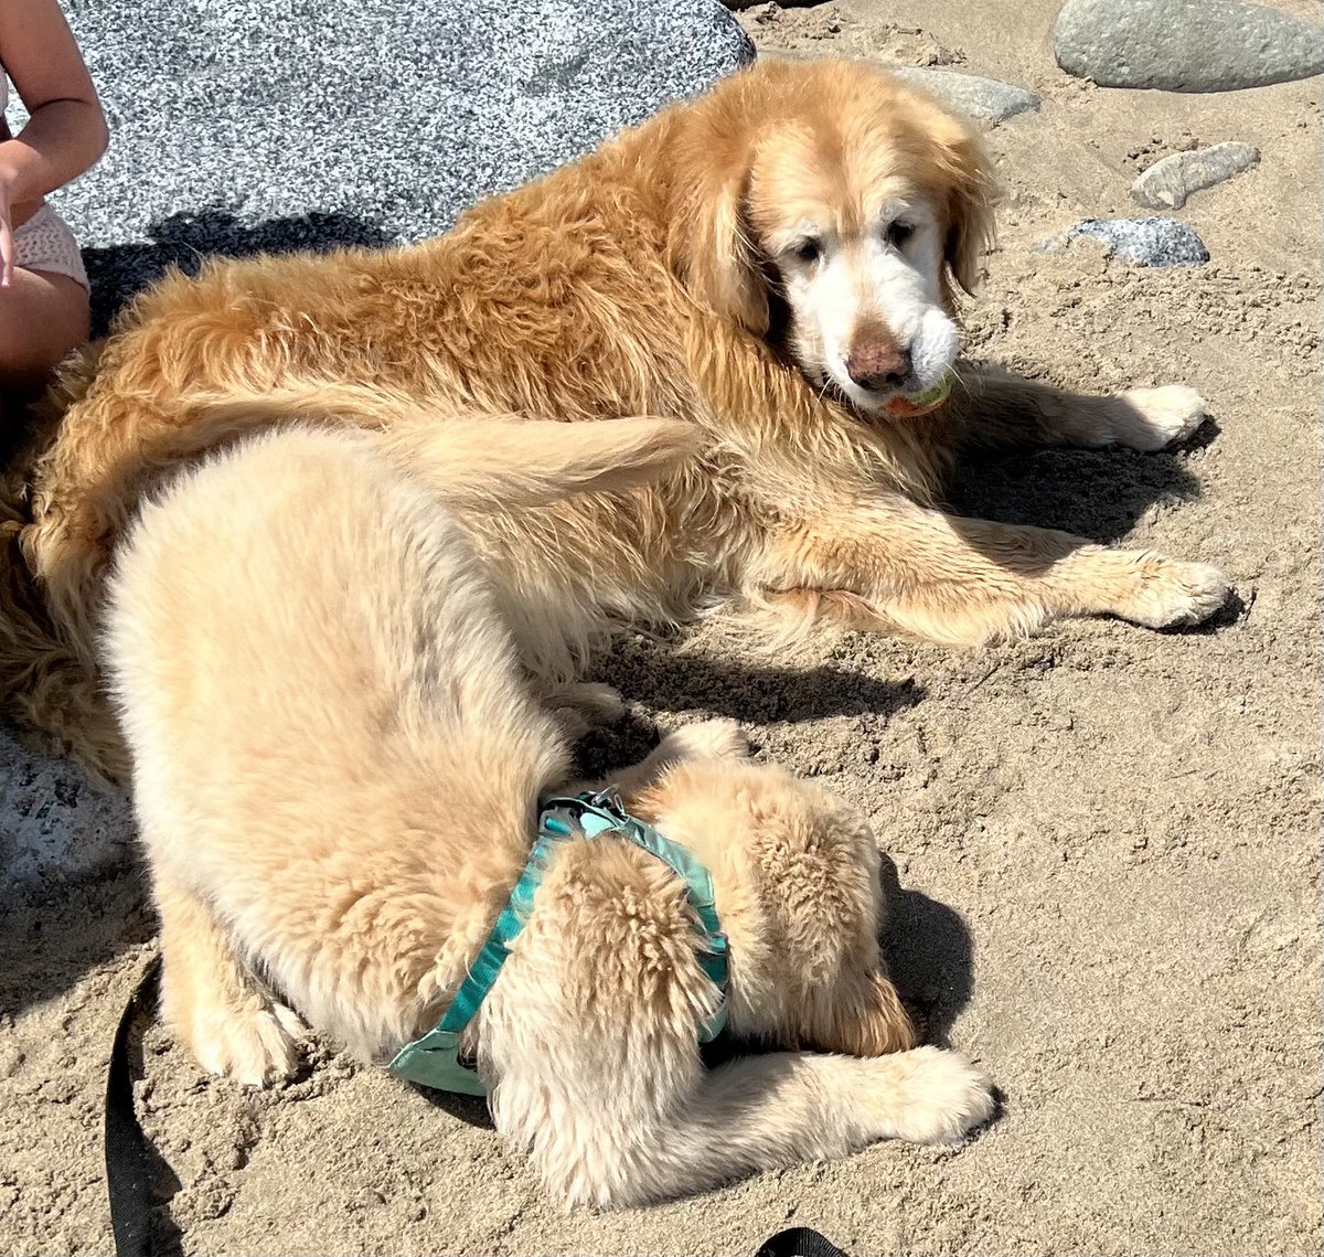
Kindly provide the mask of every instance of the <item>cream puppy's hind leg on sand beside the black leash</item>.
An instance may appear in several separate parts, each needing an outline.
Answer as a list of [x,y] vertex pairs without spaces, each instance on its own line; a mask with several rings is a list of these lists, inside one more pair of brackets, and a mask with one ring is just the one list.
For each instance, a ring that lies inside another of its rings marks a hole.
[[294,1073],[303,1027],[241,964],[216,914],[187,885],[154,870],[162,922],[162,1012],[213,1074],[265,1086]]

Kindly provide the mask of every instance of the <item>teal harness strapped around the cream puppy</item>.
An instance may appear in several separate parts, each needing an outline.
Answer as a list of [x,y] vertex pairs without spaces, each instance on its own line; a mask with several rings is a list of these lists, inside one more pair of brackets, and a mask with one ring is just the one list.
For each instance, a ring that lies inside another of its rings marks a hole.
[[604,833],[626,838],[643,848],[685,881],[696,917],[694,929],[699,936],[699,966],[722,992],[716,1012],[699,1029],[699,1042],[708,1042],[722,1032],[727,1023],[727,938],[722,932],[718,910],[712,902],[712,880],[708,877],[708,870],[678,842],[662,837],[651,825],[630,816],[621,805],[613,787],[573,799],[542,800],[538,840],[519,881],[515,882],[515,889],[510,893],[506,907],[493,926],[493,932],[483,943],[437,1028],[405,1044],[392,1060],[391,1073],[406,1082],[418,1082],[440,1091],[457,1091],[461,1095],[487,1094],[478,1072],[459,1060],[461,1034],[496,981],[496,975],[510,955],[511,943],[524,929],[534,906],[534,893],[542,885],[553,849],[576,834],[596,838]]

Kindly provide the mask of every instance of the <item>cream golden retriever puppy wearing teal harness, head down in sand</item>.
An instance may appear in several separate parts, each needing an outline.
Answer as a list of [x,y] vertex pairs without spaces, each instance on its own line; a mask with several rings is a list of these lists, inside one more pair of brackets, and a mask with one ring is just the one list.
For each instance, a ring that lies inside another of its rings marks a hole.
[[[688,440],[622,423],[448,425],[445,487],[352,433],[277,429],[143,505],[105,650],[164,1016],[208,1070],[287,1076],[299,1017],[377,1062],[437,1025],[568,775],[450,503],[527,505],[561,474],[601,489],[622,449],[629,478]],[[600,449],[547,432],[576,428]],[[727,1024],[779,1050],[706,1070],[719,991],[685,882],[618,836],[559,842],[466,1031],[498,1131],[555,1197],[642,1204],[878,1139],[953,1142],[989,1115],[974,1066],[914,1046],[858,816],[751,763],[730,722],[682,729],[617,781],[708,869]]]

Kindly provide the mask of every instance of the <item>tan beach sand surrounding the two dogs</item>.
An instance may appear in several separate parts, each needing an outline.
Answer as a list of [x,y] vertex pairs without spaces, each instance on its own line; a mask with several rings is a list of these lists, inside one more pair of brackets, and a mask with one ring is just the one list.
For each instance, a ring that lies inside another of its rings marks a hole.
[[[854,1254],[1320,1250],[1320,85],[1095,89],[1055,68],[1055,9],[842,0],[741,20],[764,50],[949,64],[1043,97],[990,135],[1008,199],[972,352],[1067,387],[1192,384],[1214,421],[1168,454],[972,466],[953,499],[1218,563],[1241,605],[1197,632],[1075,621],[970,653],[851,636],[776,665],[716,624],[629,641],[602,673],[633,719],[587,748],[624,758],[655,727],[732,715],[761,756],[863,807],[903,886],[896,978],[998,1081],[1001,1119],[956,1151],[884,1144],[567,1215],[471,1106],[330,1046],[291,1086],[245,1093],[154,1028],[139,1098],[177,1176],[175,1250],[740,1254],[789,1224]],[[1141,212],[1127,189],[1145,164],[1231,139],[1259,167],[1180,213],[1209,265],[1035,252]],[[123,860],[4,925],[3,1252],[110,1249],[102,1072],[152,930]]]

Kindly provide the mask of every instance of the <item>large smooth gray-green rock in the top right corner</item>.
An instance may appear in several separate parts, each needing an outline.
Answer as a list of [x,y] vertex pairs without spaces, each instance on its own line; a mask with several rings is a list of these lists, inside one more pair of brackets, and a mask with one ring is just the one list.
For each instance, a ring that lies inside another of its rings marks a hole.
[[1067,0],[1053,48],[1104,87],[1231,91],[1324,70],[1324,26],[1241,0]]

